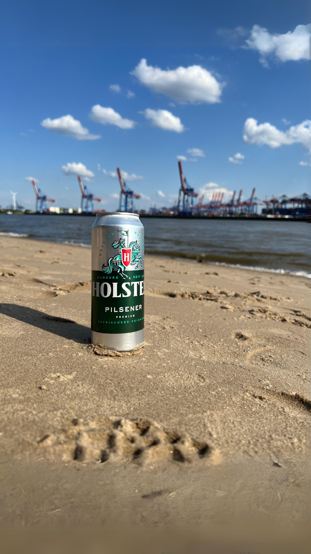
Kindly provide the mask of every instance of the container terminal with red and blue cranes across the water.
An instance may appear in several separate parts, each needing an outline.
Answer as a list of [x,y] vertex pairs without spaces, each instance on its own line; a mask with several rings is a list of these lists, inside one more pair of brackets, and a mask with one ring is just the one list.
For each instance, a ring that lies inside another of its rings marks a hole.
[[[209,202],[204,203],[204,194],[199,196],[194,188],[189,185],[183,173],[182,162],[178,161],[180,187],[178,191],[178,199],[174,206],[167,208],[151,207],[148,211],[138,211],[134,207],[134,199],[140,198],[139,194],[128,187],[123,181],[120,168],[117,167],[117,175],[120,182],[120,201],[118,206],[119,212],[138,213],[141,217],[171,217],[171,218],[232,218],[232,219],[287,219],[299,221],[311,221],[311,197],[307,193],[300,194],[288,198],[286,194],[280,197],[274,197],[273,194],[269,199],[261,201],[255,196],[256,189],[252,189],[250,198],[242,200],[242,189],[236,197],[236,191],[233,192],[229,202],[224,202],[224,192],[216,192],[212,194]],[[79,208],[59,208],[48,206],[48,203],[54,204],[54,198],[48,198],[40,188],[38,189],[35,181],[32,181],[35,193],[35,210],[24,210],[23,206],[19,206],[13,196],[13,205],[11,208],[1,209],[0,213],[25,213],[25,214],[46,214],[46,215],[70,215],[70,216],[95,216],[97,213],[105,213],[105,209],[94,209],[94,202],[101,202],[101,198],[94,197],[87,187],[82,184],[82,179],[77,176],[80,192],[81,204]],[[13,193],[12,193],[13,194]],[[261,213],[258,213],[258,206],[263,207]],[[11,211],[13,210],[13,211]]]

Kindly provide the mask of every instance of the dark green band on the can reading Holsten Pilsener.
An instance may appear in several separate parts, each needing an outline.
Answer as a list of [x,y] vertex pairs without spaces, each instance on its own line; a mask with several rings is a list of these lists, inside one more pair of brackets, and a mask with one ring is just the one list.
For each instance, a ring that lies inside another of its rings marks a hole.
[[92,271],[91,329],[98,333],[132,333],[144,328],[144,270],[106,275]]

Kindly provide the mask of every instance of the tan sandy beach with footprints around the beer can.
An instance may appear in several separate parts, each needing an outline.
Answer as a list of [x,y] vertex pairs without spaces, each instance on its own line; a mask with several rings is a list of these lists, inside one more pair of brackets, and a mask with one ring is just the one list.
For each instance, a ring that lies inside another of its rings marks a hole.
[[91,250],[0,237],[0,525],[307,525],[310,280],[146,256],[90,346]]

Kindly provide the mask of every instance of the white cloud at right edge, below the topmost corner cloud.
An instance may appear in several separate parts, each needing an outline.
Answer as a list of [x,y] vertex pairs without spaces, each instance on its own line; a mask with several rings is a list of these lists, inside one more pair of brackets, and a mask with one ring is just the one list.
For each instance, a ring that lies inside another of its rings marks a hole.
[[311,148],[311,121],[305,120],[299,125],[289,127],[287,131],[279,131],[270,123],[257,125],[257,120],[248,117],[243,127],[243,141],[246,144],[266,144],[271,148],[281,145],[300,143],[304,148]]

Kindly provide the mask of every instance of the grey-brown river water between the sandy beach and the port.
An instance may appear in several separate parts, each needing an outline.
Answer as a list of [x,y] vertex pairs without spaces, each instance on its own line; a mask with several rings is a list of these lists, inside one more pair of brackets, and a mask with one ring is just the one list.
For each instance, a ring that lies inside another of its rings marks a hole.
[[[90,247],[94,218],[0,214],[0,237],[28,237]],[[148,254],[303,275],[310,273],[310,226],[304,222],[147,219]]]

